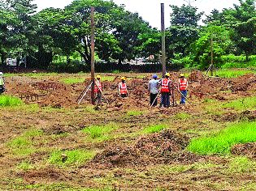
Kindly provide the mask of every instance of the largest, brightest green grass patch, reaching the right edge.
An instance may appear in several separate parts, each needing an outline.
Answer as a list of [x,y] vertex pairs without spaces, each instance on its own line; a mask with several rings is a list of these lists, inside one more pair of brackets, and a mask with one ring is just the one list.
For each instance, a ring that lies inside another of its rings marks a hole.
[[215,134],[194,138],[188,146],[189,151],[200,155],[230,154],[230,149],[238,143],[256,142],[256,121],[242,121]]

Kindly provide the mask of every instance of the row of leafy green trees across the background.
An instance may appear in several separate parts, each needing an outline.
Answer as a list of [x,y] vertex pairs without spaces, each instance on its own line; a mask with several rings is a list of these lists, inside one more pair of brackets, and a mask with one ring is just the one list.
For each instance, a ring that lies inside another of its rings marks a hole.
[[[54,55],[79,54],[90,63],[90,7],[95,7],[96,53],[106,62],[155,55],[161,50],[161,33],[151,28],[137,13],[124,10],[112,1],[74,0],[64,9],[48,8],[36,12],[33,0],[0,0],[0,56],[29,55],[47,67]],[[224,54],[255,53],[255,0],[240,0],[240,5],[214,10],[204,26],[198,23],[203,13],[193,6],[170,6],[171,27],[167,33],[170,61],[206,66],[210,60],[210,39],[215,60]]]

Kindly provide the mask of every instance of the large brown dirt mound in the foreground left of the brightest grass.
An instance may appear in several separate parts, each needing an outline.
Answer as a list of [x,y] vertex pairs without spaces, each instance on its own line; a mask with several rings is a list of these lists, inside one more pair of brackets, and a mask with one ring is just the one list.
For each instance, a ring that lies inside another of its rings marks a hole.
[[106,166],[144,166],[155,163],[191,163],[198,159],[184,148],[189,138],[171,130],[139,138],[132,146],[115,146],[96,155],[93,163]]

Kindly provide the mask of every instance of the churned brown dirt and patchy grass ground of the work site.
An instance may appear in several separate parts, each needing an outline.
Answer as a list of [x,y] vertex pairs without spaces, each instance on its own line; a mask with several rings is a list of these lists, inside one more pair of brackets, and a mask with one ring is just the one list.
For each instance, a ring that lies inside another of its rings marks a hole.
[[[255,121],[256,105],[245,101],[256,99],[254,73],[228,79],[193,71],[192,104],[180,105],[175,89],[171,108],[150,108],[152,74],[101,75],[108,104],[98,106],[90,92],[77,104],[89,74],[7,75],[5,94],[24,104],[0,108],[1,190],[256,190],[255,166],[234,163],[256,163],[255,143],[233,146],[230,155],[187,150],[192,138]],[[123,75],[128,98],[121,99]],[[171,73],[175,83],[178,76]]]

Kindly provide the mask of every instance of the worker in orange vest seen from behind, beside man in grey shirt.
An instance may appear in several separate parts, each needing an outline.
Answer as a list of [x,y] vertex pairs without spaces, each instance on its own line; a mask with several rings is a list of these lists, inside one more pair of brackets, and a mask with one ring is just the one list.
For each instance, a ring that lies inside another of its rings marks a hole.
[[170,74],[166,73],[164,79],[161,80],[161,107],[170,107],[170,96],[171,96],[171,80]]

